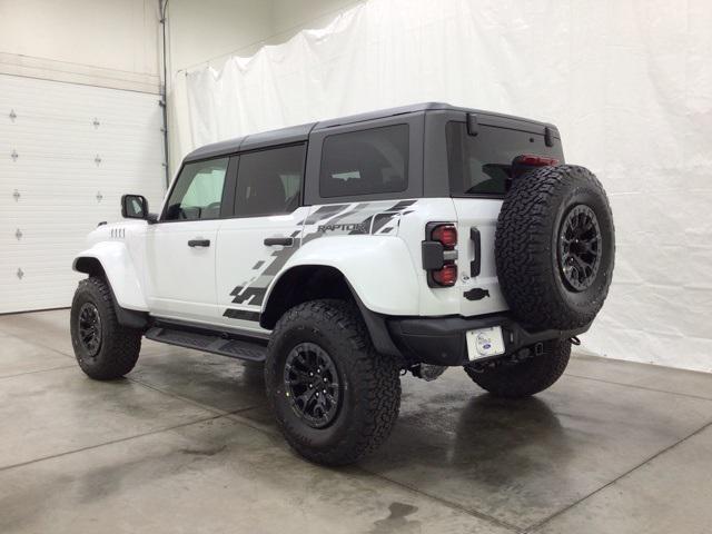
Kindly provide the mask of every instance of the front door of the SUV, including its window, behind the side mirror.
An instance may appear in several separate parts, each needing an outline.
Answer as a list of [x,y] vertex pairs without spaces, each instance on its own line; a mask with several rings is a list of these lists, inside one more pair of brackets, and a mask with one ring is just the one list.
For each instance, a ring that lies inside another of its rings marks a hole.
[[215,323],[215,256],[229,158],[186,164],[146,236],[152,315]]

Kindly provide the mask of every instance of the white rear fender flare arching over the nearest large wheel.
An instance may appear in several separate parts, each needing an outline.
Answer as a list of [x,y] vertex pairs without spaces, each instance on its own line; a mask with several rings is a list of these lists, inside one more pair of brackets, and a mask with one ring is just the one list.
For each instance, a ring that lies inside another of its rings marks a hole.
[[[393,236],[329,236],[306,243],[271,284],[290,268],[320,265],[338,269],[362,303],[385,315],[417,315],[418,283],[408,248]],[[269,301],[269,295],[265,303]]]

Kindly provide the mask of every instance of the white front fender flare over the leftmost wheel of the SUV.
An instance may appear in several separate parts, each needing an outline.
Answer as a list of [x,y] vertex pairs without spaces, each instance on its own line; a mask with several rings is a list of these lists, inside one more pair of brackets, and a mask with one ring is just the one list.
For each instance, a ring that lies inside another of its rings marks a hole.
[[75,257],[73,270],[81,271],[77,266],[81,258],[95,258],[101,264],[120,307],[148,312],[141,283],[126,244],[121,241],[97,243]]

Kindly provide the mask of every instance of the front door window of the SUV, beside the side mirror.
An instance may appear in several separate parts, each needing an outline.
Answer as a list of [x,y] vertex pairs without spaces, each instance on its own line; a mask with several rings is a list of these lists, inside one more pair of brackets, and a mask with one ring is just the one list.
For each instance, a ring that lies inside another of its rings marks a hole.
[[228,158],[184,166],[168,198],[164,220],[217,219]]

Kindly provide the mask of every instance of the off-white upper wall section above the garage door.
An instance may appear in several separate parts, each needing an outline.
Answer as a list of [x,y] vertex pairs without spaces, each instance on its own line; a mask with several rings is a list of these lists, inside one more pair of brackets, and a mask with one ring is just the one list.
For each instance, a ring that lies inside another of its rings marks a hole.
[[0,73],[159,92],[158,0],[0,0]]

